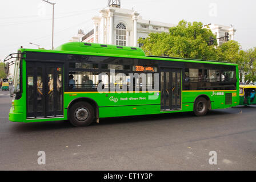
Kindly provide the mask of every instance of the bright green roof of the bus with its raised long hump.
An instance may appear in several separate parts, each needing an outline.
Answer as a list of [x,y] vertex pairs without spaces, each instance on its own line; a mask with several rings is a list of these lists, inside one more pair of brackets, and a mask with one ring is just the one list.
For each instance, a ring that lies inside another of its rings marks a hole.
[[113,56],[113,57],[132,57],[138,59],[154,59],[165,61],[184,61],[191,63],[208,63],[208,64],[223,64],[234,65],[234,63],[227,63],[223,61],[211,61],[211,60],[198,60],[198,59],[186,59],[179,57],[165,57],[165,56],[146,56],[145,52],[139,47],[127,47],[127,46],[114,46],[109,44],[98,43],[83,43],[83,42],[70,42],[62,44],[54,50],[45,49],[20,49],[23,51],[33,52],[53,52],[53,53],[75,53],[82,55],[94,55],[94,56]]

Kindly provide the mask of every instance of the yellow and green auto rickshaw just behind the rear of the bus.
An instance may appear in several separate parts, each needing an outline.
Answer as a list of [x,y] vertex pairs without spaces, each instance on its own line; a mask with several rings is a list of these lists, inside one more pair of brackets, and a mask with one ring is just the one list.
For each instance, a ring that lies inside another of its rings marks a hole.
[[239,86],[239,97],[240,105],[256,105],[255,99],[256,85],[240,85]]

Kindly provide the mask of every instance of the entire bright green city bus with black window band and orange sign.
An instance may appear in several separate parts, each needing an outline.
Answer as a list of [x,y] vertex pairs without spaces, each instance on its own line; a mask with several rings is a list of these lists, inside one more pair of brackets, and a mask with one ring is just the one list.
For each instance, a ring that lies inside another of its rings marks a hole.
[[[15,57],[13,122],[70,121],[211,109],[239,104],[238,65],[146,56],[138,47],[73,42]],[[9,60],[6,59],[6,60]]]

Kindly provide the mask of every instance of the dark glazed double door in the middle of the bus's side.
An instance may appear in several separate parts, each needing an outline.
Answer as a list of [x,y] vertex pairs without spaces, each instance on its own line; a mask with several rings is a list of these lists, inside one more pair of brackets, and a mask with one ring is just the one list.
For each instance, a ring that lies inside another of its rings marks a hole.
[[161,70],[161,110],[181,109],[181,69]]

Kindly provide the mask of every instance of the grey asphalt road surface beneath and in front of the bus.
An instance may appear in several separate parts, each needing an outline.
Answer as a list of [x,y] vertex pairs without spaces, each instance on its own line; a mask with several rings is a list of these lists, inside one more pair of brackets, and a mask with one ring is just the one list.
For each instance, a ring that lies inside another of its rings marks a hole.
[[[204,117],[105,118],[75,128],[63,121],[10,122],[6,94],[0,92],[0,170],[256,169],[256,106],[213,110]],[[38,151],[45,151],[45,165],[38,165]],[[209,164],[210,151],[217,165]]]

